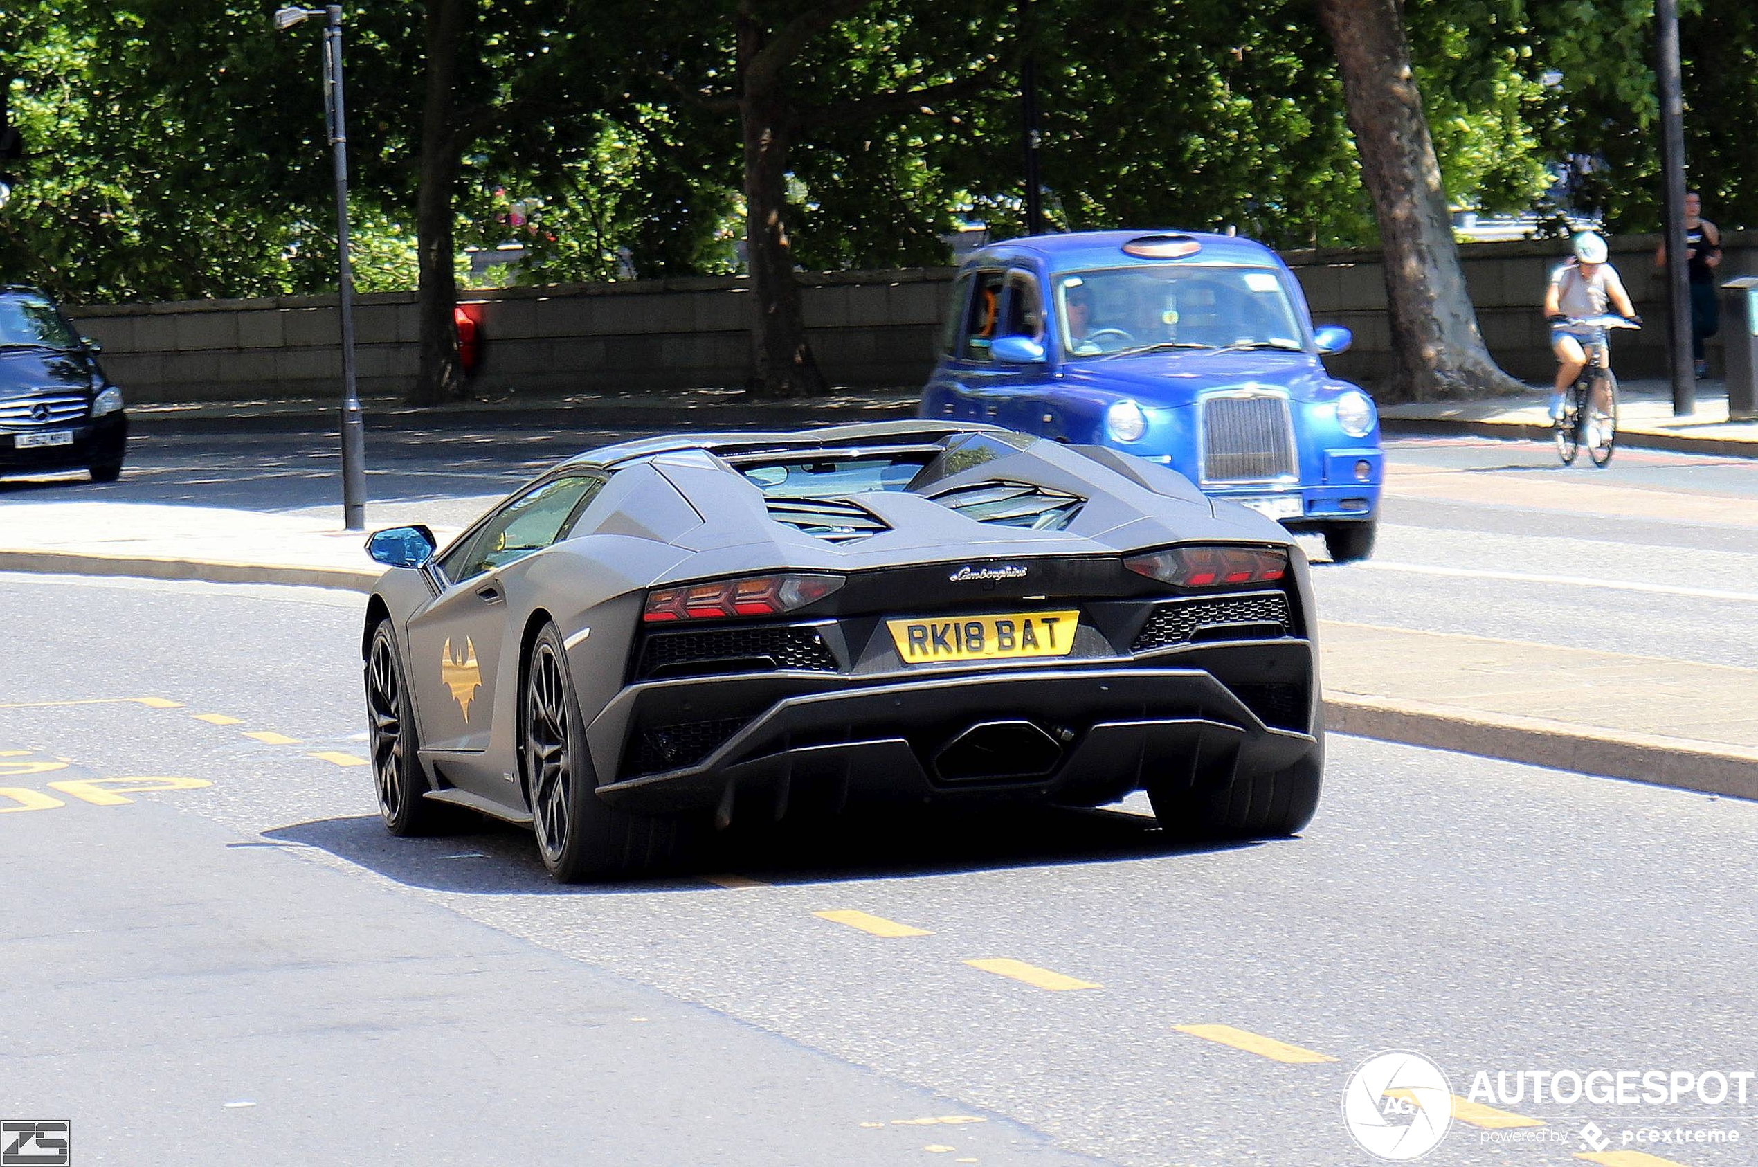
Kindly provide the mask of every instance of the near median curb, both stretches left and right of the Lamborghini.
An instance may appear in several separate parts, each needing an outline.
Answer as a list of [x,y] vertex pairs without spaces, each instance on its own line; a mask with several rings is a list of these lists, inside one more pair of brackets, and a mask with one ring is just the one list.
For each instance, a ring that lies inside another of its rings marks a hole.
[[[378,571],[202,559],[0,550],[0,571],[144,576],[209,584],[281,584],[371,592]],[[1702,794],[1758,800],[1758,750],[1624,733],[1544,717],[1482,714],[1426,701],[1327,692],[1326,729]]]

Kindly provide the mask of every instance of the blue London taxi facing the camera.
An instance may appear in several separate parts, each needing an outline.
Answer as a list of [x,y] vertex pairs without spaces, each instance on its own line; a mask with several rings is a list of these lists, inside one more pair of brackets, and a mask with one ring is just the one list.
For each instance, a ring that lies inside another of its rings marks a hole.
[[919,415],[1136,453],[1347,562],[1373,552],[1384,475],[1373,399],[1320,362],[1348,343],[1250,239],[1011,239],[960,267]]

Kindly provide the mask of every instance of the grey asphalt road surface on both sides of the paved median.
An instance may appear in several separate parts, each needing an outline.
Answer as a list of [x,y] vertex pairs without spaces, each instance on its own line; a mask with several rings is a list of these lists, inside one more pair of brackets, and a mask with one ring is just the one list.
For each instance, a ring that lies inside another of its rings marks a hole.
[[[459,522],[599,438],[374,434],[373,520]],[[1751,666],[1758,466],[1389,450],[1378,554],[1317,573],[1327,619]],[[327,508],[327,452],[148,434],[118,487],[0,506]],[[1387,1049],[1457,1095],[1758,1070],[1753,803],[1333,738],[1289,842],[1171,849],[1136,803],[860,815],[556,889],[513,830],[383,833],[350,765],[359,598],[0,598],[0,1118],[72,1118],[76,1163],[1341,1167],[1378,1162],[1340,1104]],[[967,963],[995,960],[1025,979]],[[1424,1162],[1754,1162],[1758,1079],[1489,1104]]]

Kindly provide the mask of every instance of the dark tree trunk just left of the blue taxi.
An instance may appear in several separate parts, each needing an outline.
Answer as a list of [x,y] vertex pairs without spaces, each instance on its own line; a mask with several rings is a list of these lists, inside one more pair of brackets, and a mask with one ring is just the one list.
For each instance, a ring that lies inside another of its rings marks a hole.
[[751,388],[765,397],[810,397],[826,390],[805,343],[800,285],[788,239],[788,109],[779,77],[752,69],[765,44],[751,0],[738,5],[738,127],[745,144],[745,265],[756,313]]

